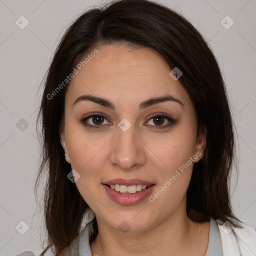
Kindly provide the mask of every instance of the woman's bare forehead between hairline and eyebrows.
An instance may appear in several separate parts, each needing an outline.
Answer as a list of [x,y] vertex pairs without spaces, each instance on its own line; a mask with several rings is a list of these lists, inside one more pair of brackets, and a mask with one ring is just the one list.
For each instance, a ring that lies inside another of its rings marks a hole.
[[[104,45],[87,58],[74,75],[66,93],[73,103],[82,94],[95,94],[116,102],[142,101],[145,98],[171,94],[184,103],[188,95],[178,80],[169,75],[167,63],[149,48],[130,49]],[[81,60],[84,60],[87,53]]]

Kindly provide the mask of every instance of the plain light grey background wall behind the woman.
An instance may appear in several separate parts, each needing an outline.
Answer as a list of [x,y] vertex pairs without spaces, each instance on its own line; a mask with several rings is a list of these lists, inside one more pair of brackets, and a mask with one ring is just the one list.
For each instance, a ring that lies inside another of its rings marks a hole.
[[[231,201],[235,214],[255,228],[256,0],[159,2],[183,14],[219,61],[238,134],[238,185],[232,185]],[[103,1],[0,0],[0,255],[25,250],[37,255],[42,250],[42,213],[33,194],[39,155],[35,118],[41,96],[36,92],[65,28],[98,3]],[[23,30],[15,24],[21,15],[29,21]],[[234,21],[229,29],[220,23],[226,15]],[[21,118],[28,123],[23,131],[16,127]],[[29,226],[23,235],[15,229],[21,220]]]

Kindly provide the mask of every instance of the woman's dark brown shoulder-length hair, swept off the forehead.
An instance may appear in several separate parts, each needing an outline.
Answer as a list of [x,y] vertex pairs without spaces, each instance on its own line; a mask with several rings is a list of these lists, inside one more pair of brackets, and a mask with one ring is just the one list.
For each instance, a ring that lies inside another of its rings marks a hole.
[[[68,83],[53,97],[47,95],[91,49],[117,43],[148,47],[170,69],[178,67],[182,71],[179,82],[193,102],[197,131],[202,128],[206,134],[204,155],[194,163],[187,189],[187,215],[197,222],[212,217],[239,227],[231,210],[228,188],[234,160],[233,122],[225,85],[209,45],[191,23],[165,6],[149,0],[118,0],[92,8],[72,23],[58,44],[44,82],[36,121],[38,125],[41,117],[42,131],[38,135],[43,148],[35,188],[46,170],[44,217],[48,247],[53,245],[56,255],[68,247],[79,234],[89,206],[75,183],[66,177],[71,167],[60,144]],[[96,234],[94,218],[90,239]]]

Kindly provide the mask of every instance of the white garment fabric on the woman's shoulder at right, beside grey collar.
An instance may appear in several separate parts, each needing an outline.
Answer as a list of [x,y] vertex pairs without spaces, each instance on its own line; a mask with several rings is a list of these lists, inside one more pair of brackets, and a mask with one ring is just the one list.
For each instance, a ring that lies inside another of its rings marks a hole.
[[216,220],[221,235],[223,255],[256,255],[256,230],[243,222],[234,222],[241,227],[234,227],[229,221]]

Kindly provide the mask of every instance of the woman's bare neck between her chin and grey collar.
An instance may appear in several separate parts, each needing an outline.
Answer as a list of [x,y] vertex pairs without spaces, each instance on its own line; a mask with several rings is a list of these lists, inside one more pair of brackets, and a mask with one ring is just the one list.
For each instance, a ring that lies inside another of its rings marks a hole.
[[[98,234],[91,242],[92,255],[195,255],[203,256],[208,245],[209,224],[195,223],[186,211],[173,214],[142,232],[123,233],[96,216]],[[205,225],[206,224],[206,225]],[[198,240],[199,239],[199,240]],[[199,253],[198,253],[199,252]],[[198,253],[198,254],[196,254]]]

